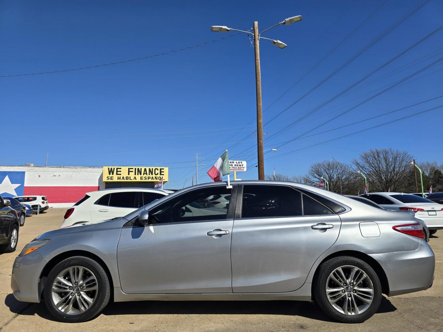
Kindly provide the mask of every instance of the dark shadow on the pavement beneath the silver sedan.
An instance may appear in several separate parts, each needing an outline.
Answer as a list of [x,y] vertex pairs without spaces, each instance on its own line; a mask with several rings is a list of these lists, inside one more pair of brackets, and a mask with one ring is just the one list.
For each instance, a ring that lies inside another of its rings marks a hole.
[[[46,306],[41,303],[19,302],[8,294],[5,305],[11,312],[20,315],[37,315],[47,320],[54,320]],[[381,298],[377,313],[397,310],[386,298]],[[314,320],[334,322],[318,305],[304,301],[134,301],[110,303],[102,314],[116,315],[286,315],[301,316]]]

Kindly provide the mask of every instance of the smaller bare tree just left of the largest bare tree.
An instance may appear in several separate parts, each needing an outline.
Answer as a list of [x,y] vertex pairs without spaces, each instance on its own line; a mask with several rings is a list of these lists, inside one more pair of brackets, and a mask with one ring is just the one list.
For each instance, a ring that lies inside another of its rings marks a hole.
[[330,160],[312,164],[306,175],[306,183],[316,185],[323,181],[322,176],[329,181],[329,190],[331,191],[343,194],[357,193],[356,173],[348,164]]

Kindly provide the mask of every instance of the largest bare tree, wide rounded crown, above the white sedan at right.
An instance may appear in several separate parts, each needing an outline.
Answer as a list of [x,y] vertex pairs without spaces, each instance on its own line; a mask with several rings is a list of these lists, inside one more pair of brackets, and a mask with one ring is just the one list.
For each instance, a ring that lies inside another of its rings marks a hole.
[[352,162],[368,178],[370,191],[403,191],[411,174],[412,158],[406,151],[371,149]]

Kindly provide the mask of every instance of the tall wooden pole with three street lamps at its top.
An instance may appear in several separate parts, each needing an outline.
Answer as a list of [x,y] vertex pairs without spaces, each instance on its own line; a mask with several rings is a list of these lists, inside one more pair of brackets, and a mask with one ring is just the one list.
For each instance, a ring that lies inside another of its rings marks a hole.
[[243,32],[243,33],[252,35],[253,39],[254,39],[255,80],[256,80],[256,100],[257,100],[257,166],[258,166],[258,179],[259,180],[264,180],[264,156],[263,156],[263,107],[261,104],[260,50],[259,50],[258,42],[260,39],[266,39],[266,40],[270,40],[275,46],[277,46],[279,48],[285,48],[288,45],[286,45],[284,42],[280,42],[280,40],[260,37],[260,35],[262,33],[264,33],[265,31],[268,31],[268,30],[272,29],[273,27],[276,27],[277,25],[283,25],[283,24],[289,25],[289,24],[292,24],[294,22],[298,22],[301,20],[302,20],[301,15],[289,17],[289,18],[285,19],[284,21],[277,23],[277,24],[273,25],[272,27],[269,27],[268,29],[261,31],[260,33],[258,32],[258,22],[257,21],[254,22],[254,27],[251,28],[251,30],[254,33],[250,32],[250,31],[237,30],[237,29],[226,27],[226,26],[220,26],[220,25],[214,25],[211,27],[211,31],[223,32],[223,33],[226,31],[239,31],[239,32]]

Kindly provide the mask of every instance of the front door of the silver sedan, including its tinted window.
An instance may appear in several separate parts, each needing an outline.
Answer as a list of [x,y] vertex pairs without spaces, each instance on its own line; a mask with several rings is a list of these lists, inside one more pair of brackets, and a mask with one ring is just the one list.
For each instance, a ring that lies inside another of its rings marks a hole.
[[232,293],[231,234],[235,206],[202,200],[234,189],[188,190],[149,209],[147,226],[128,222],[117,246],[124,293]]

